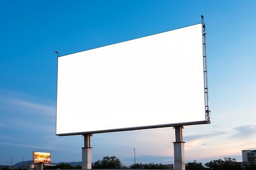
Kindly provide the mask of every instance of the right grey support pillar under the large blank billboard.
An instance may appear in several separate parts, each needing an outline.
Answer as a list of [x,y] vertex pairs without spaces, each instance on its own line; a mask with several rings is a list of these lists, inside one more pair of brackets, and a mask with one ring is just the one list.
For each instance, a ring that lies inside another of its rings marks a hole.
[[184,141],[182,135],[183,126],[175,126],[175,139],[174,145],[174,169],[185,169],[185,157],[184,157]]

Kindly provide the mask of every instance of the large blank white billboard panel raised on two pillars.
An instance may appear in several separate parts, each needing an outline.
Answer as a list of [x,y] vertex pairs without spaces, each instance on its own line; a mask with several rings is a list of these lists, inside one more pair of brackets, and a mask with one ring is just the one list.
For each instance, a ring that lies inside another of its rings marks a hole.
[[207,123],[202,24],[58,57],[56,135]]

